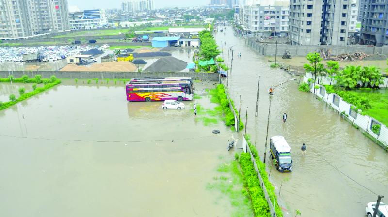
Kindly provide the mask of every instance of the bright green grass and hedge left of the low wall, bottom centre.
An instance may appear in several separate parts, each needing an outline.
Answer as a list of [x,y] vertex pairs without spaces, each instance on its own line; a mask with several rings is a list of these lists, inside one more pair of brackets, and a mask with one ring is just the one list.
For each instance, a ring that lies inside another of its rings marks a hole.
[[243,186],[242,174],[237,161],[221,164],[217,171],[221,174],[213,177],[206,188],[217,190],[227,196],[232,206],[232,217],[253,217],[248,191]]

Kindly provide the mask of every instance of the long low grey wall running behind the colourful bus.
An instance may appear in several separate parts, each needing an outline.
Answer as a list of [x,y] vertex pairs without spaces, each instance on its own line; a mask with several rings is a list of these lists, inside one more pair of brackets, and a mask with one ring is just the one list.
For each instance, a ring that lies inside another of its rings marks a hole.
[[[55,75],[57,78],[109,78],[109,79],[130,79],[135,77],[191,77],[194,80],[211,80],[218,81],[218,73],[198,73],[198,72],[32,72],[32,71],[14,71],[11,72],[14,78],[19,78],[23,75],[34,77],[36,74],[42,75],[43,78],[50,78]],[[8,77],[8,71],[0,71],[0,77]]]

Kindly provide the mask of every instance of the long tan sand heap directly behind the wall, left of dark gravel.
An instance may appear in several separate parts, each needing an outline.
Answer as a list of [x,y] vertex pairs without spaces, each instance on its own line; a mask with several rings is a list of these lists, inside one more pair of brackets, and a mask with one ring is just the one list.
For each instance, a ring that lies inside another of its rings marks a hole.
[[120,62],[103,62],[94,63],[91,65],[75,65],[68,64],[60,71],[63,72],[135,72],[137,70],[136,65],[132,62],[120,61]]

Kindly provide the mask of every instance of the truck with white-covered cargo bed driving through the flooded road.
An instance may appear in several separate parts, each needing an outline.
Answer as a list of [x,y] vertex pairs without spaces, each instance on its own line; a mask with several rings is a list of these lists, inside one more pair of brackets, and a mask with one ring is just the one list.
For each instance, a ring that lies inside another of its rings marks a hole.
[[282,136],[271,137],[271,158],[276,160],[276,169],[280,172],[292,172],[291,148]]

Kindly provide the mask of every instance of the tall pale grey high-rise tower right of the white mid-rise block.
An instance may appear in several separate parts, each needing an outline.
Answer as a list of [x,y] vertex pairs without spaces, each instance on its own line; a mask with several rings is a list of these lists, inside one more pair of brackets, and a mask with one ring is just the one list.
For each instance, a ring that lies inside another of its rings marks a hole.
[[291,0],[290,42],[293,45],[346,45],[349,0]]

